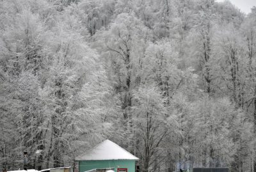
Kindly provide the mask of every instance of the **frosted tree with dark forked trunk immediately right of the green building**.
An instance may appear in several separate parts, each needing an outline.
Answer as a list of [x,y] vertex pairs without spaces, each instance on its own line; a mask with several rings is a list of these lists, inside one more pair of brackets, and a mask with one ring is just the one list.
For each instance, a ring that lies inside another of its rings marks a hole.
[[[142,160],[143,171],[156,171],[159,164],[163,163],[161,147],[166,136],[174,127],[172,115],[166,115],[166,108],[160,92],[156,87],[141,87],[133,94],[132,107],[134,111],[134,126],[138,128],[136,138],[141,138],[141,144],[136,149]],[[163,125],[164,124],[164,125]]]

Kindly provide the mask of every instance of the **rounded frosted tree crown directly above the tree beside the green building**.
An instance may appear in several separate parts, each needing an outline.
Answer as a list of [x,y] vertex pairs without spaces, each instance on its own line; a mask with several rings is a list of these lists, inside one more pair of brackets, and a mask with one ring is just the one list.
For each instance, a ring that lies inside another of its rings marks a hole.
[[182,71],[172,43],[167,39],[150,43],[143,59],[143,83],[156,83],[164,97],[170,99],[182,85]]

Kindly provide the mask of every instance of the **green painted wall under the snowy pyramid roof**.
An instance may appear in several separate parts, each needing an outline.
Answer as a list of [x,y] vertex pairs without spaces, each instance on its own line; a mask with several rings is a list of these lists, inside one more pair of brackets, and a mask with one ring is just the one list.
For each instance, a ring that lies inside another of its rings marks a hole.
[[[79,161],[79,172],[95,168],[127,168],[127,172],[135,172],[134,160]],[[117,172],[117,171],[116,171]]]

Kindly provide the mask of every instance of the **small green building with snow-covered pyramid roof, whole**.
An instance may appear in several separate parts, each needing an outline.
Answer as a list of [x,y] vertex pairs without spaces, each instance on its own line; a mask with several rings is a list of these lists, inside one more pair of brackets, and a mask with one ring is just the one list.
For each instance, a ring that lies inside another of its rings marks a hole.
[[138,160],[138,157],[110,140],[76,157],[79,172],[109,168],[115,172],[135,172],[135,162]]

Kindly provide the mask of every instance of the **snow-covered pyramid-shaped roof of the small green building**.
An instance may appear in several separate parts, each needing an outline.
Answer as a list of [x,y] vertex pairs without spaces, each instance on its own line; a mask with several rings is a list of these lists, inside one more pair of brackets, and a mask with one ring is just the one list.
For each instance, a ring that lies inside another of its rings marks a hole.
[[89,160],[139,160],[131,153],[127,152],[122,147],[116,145],[116,143],[105,140],[96,147],[88,150],[84,154],[76,157],[76,161],[89,161]]

